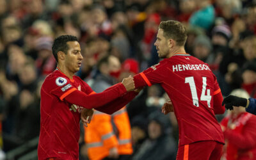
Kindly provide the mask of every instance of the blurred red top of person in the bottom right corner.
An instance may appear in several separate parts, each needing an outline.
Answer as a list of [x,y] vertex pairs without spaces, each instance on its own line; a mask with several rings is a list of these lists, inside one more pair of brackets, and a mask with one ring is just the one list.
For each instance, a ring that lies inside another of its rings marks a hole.
[[[232,129],[228,127],[232,123]],[[227,148],[224,157],[232,159],[256,159],[256,116],[241,113],[236,117],[230,115],[223,118],[221,125],[226,127],[224,137]]]

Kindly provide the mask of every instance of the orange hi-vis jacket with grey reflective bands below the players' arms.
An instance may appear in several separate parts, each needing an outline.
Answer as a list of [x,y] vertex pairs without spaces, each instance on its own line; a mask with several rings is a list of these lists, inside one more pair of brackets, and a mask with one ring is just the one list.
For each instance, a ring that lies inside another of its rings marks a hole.
[[84,127],[84,141],[91,160],[108,157],[113,147],[118,148],[119,155],[132,154],[131,125],[126,109],[113,115],[95,111],[90,125]]

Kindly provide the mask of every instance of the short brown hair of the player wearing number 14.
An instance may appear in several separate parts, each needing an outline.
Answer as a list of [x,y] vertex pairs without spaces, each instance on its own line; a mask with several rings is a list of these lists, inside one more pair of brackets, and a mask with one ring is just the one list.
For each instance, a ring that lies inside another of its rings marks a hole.
[[185,45],[188,35],[186,28],[179,21],[162,21],[159,25],[159,29],[163,29],[165,38],[175,40],[179,46]]

